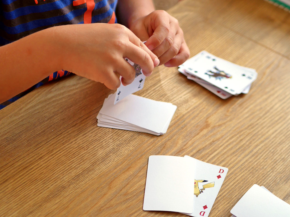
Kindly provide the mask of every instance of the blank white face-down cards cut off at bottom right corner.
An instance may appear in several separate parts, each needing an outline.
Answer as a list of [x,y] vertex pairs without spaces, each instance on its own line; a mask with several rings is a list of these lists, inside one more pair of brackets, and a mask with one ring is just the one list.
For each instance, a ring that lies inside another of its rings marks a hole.
[[232,217],[289,217],[290,205],[265,187],[253,185],[231,209]]

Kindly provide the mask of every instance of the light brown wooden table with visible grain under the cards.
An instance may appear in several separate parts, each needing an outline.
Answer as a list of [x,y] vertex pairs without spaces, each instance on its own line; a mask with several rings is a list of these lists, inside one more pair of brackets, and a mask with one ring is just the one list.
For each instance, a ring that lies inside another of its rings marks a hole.
[[290,203],[290,14],[262,0],[183,0],[168,10],[194,56],[255,68],[246,95],[222,100],[177,67],[137,95],[177,105],[166,134],[97,127],[109,93],[71,76],[0,111],[0,216],[185,216],[143,211],[148,157],[190,155],[229,168],[210,217],[253,185]]

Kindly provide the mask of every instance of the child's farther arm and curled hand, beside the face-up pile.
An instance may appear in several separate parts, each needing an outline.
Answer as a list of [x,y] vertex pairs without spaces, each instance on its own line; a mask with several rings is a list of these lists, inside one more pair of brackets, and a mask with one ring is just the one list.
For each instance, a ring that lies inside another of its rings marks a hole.
[[134,32],[165,66],[178,66],[189,57],[189,49],[177,19],[154,10],[152,0],[119,0],[118,20]]

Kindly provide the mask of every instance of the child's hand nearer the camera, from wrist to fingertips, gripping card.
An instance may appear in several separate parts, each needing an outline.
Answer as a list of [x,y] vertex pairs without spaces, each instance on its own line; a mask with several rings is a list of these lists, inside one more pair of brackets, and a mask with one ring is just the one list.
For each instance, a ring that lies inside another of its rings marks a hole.
[[125,57],[140,65],[145,76],[159,64],[155,56],[129,29],[119,24],[81,24],[53,27],[53,41],[59,52],[60,69],[103,83],[109,89],[135,78]]

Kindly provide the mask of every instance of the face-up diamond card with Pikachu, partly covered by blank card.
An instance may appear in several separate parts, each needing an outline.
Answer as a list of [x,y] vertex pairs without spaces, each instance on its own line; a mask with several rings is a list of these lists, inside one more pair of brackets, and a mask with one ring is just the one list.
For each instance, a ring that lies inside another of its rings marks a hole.
[[189,216],[209,216],[213,203],[228,172],[228,168],[206,163],[189,156],[195,164],[193,212]]

